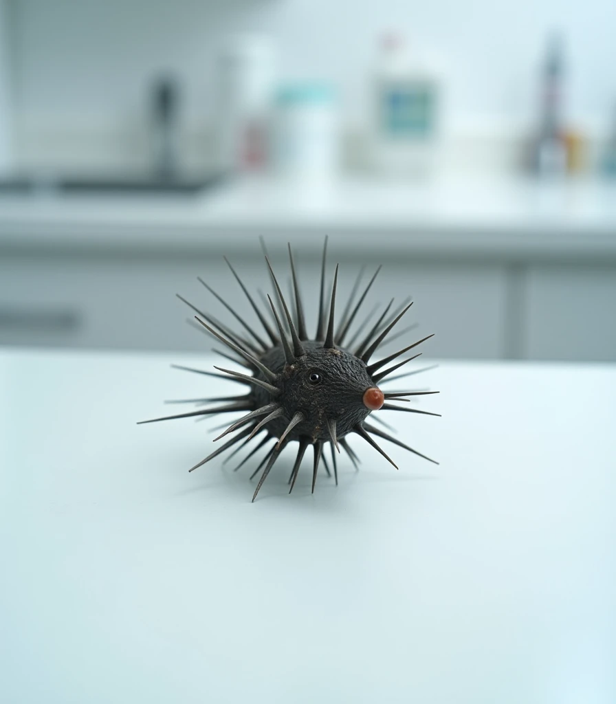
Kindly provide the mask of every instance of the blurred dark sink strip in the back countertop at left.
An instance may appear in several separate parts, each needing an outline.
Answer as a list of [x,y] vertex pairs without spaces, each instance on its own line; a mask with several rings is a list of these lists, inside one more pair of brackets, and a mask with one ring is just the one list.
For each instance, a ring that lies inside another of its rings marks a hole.
[[15,176],[0,179],[2,194],[197,194],[213,188],[225,180],[222,173],[208,173],[201,176],[157,177],[157,176]]

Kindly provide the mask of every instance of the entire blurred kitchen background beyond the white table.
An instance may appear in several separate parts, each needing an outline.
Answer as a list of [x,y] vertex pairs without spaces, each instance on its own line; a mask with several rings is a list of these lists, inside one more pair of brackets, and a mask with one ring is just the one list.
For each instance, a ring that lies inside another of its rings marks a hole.
[[[204,350],[294,246],[443,358],[616,360],[613,0],[0,0],[0,344]],[[285,274],[286,276],[286,274]],[[314,305],[311,308],[314,309]],[[251,311],[246,313],[250,317]]]

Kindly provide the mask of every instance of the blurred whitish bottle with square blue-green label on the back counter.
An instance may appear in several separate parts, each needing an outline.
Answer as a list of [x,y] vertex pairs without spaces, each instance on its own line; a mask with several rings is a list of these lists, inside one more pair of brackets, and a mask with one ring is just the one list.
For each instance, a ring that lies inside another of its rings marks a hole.
[[387,34],[373,87],[370,161],[388,175],[427,175],[439,141],[441,81],[425,58],[407,51],[403,39]]

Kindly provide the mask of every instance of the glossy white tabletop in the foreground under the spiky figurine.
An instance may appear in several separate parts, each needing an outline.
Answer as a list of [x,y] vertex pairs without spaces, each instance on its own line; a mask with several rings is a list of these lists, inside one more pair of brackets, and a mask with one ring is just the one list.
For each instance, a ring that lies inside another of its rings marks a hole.
[[135,425],[222,386],[169,362],[0,353],[3,703],[616,700],[616,367],[443,364],[387,419],[441,465],[251,503],[220,419]]

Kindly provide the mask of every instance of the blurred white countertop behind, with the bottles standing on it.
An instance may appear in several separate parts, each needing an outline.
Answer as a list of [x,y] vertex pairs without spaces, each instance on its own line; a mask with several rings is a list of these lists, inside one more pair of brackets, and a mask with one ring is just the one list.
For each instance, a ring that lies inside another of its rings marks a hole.
[[276,244],[294,231],[327,231],[341,246],[385,252],[616,256],[616,182],[457,175],[415,184],[349,179],[315,191],[243,180],[200,196],[0,199],[5,248],[211,251],[228,237],[252,244],[266,233]]

